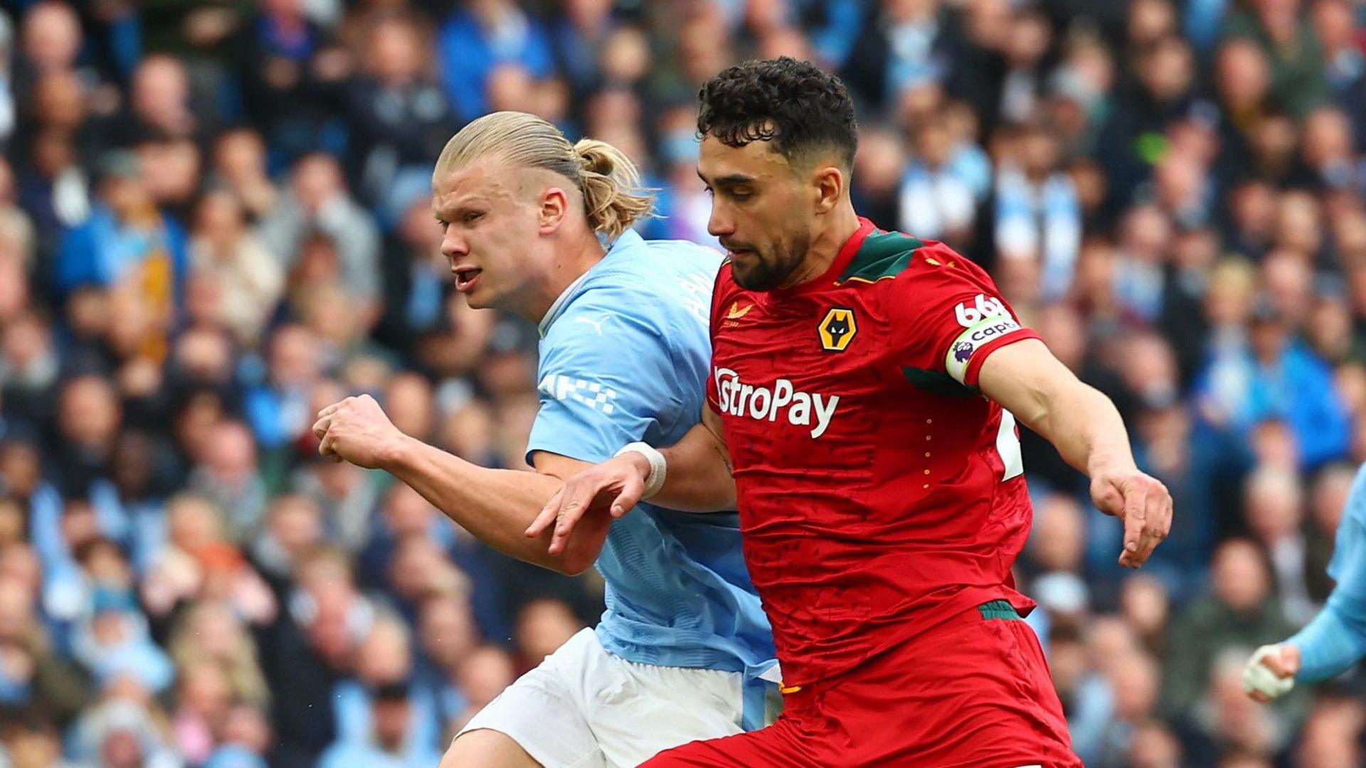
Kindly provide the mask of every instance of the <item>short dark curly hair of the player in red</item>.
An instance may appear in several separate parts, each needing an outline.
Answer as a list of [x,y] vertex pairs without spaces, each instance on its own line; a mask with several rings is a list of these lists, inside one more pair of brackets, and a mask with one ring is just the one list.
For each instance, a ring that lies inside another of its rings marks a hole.
[[854,164],[858,123],[854,102],[835,75],[790,56],[746,61],[702,85],[697,116],[701,135],[728,146],[772,142],[790,161],[820,149],[839,149]]

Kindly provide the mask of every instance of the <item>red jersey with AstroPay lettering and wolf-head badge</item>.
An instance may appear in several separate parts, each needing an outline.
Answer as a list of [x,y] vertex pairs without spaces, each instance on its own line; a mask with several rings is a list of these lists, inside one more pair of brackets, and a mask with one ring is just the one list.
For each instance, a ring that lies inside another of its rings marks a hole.
[[746,291],[725,264],[712,298],[708,400],[785,685],[990,600],[1033,608],[1015,420],[975,385],[1038,335],[971,261],[859,221],[821,277]]

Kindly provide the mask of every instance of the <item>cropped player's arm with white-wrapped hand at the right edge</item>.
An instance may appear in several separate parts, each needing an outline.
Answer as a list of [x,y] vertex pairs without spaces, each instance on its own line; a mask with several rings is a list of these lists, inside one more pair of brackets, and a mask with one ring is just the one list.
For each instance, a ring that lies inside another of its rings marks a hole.
[[1243,690],[1257,701],[1284,696],[1296,682],[1332,678],[1366,657],[1366,465],[1337,523],[1328,575],[1337,585],[1324,609],[1295,637],[1258,648],[1247,661]]

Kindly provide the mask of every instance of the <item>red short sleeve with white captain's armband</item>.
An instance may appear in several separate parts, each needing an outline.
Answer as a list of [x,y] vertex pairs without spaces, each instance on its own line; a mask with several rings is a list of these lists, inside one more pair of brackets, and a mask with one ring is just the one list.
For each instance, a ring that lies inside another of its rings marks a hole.
[[903,364],[948,373],[966,387],[977,387],[993,351],[1040,338],[1020,324],[986,272],[941,243],[917,250],[891,290]]

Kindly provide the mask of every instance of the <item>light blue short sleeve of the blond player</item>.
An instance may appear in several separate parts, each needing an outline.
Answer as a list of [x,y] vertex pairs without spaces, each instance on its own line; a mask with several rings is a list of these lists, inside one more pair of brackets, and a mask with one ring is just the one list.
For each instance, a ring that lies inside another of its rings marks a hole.
[[664,310],[643,298],[590,288],[556,318],[541,342],[529,463],[533,451],[601,462],[684,415]]

